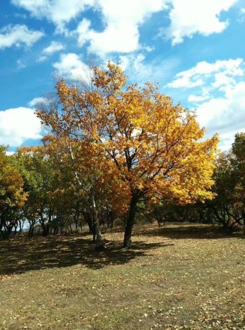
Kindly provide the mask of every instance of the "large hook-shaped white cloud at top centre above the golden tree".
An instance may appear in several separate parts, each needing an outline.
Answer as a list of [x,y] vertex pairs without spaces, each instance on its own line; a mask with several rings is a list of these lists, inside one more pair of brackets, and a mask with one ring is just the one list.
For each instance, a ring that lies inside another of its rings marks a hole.
[[105,28],[102,32],[89,29],[83,19],[78,25],[78,43],[90,42],[89,50],[103,56],[110,52],[132,52],[139,49],[139,25],[153,13],[166,9],[168,0],[97,0]]

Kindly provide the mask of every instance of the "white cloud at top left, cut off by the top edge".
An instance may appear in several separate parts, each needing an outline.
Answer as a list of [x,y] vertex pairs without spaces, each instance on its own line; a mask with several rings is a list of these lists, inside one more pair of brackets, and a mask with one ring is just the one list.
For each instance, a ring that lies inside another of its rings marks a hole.
[[47,18],[62,31],[65,23],[77,17],[87,6],[93,6],[95,0],[12,0],[12,3],[34,17]]

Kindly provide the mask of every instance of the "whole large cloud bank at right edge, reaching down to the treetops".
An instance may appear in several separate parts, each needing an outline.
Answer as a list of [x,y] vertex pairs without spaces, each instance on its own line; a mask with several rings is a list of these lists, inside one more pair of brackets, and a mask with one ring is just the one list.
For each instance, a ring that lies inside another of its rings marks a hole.
[[[193,86],[202,81],[199,88]],[[196,95],[188,98],[196,107],[197,120],[206,128],[206,135],[219,133],[221,149],[229,149],[236,132],[245,130],[245,63],[243,59],[199,62],[180,72],[168,87],[195,87]],[[198,90],[199,89],[199,90]]]

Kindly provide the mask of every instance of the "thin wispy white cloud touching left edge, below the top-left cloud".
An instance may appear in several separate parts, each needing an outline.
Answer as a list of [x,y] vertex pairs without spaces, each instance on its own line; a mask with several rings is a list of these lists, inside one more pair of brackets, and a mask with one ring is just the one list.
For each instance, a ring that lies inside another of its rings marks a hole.
[[7,47],[32,46],[44,32],[29,30],[26,25],[7,25],[0,30],[0,49]]

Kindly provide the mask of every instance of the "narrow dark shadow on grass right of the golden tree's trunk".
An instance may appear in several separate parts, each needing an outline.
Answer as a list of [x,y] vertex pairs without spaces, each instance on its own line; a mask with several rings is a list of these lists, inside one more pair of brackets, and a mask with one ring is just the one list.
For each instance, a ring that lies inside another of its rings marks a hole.
[[183,224],[171,227],[155,227],[152,229],[139,230],[145,236],[162,236],[171,239],[221,239],[229,237],[245,238],[244,232],[241,230],[235,231],[227,235],[227,232],[219,226],[203,226],[203,225],[191,225]]

